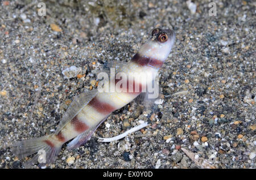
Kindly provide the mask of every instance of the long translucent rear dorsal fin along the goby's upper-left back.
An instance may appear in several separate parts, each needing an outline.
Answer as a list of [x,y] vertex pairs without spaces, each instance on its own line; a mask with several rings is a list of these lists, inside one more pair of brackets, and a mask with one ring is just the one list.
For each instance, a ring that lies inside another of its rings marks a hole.
[[94,96],[98,94],[97,89],[77,95],[69,106],[67,112],[63,115],[55,134],[58,134],[61,129],[67,125],[81,110],[84,108]]

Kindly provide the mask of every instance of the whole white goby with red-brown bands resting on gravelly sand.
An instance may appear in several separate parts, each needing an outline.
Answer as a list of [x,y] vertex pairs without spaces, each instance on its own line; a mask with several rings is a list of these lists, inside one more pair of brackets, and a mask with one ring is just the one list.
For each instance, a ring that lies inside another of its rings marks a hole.
[[[150,39],[142,45],[141,49],[131,61],[121,67],[119,72],[128,75],[129,72],[158,72],[171,52],[174,44],[175,33],[170,29],[155,28]],[[118,87],[120,79],[114,77],[109,85]],[[80,147],[92,136],[93,132],[101,125],[109,115],[119,108],[122,108],[133,101],[141,94],[149,81],[137,82],[135,77],[127,79],[126,92],[98,92],[97,89],[76,96],[63,115],[59,126],[54,134],[46,135],[41,138],[23,140],[12,145],[11,149],[16,156],[24,158],[37,153],[30,161],[24,163],[29,168],[37,161],[39,165],[53,162],[60,152],[62,145],[73,139],[68,144],[68,149]],[[114,84],[110,84],[114,83]],[[135,87],[139,87],[135,91]],[[123,90],[122,85],[119,89]],[[118,89],[115,89],[118,90]],[[40,156],[44,153],[44,158]]]

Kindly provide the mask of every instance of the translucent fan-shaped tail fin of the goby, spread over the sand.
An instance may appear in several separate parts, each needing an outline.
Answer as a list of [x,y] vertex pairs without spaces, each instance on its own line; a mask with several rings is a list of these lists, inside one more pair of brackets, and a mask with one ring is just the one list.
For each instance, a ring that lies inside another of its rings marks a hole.
[[36,162],[39,162],[39,166],[49,164],[55,160],[62,146],[52,143],[51,136],[16,142],[11,146],[11,151],[20,159],[37,153],[31,160],[24,162],[25,168],[31,168]]

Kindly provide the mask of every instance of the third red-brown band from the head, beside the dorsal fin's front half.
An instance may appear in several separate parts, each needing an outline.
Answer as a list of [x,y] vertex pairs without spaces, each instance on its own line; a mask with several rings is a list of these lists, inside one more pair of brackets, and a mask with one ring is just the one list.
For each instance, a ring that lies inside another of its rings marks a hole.
[[97,97],[94,97],[90,102],[89,105],[92,106],[94,109],[96,109],[99,113],[102,114],[109,114],[112,113],[115,108],[106,103],[106,102],[101,102],[100,100],[98,100]]

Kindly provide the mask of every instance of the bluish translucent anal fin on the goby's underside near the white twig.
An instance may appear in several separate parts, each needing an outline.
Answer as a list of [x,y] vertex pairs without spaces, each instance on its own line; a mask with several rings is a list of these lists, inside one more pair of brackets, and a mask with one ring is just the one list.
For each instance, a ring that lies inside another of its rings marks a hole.
[[100,123],[98,123],[96,126],[93,126],[89,128],[88,130],[82,132],[80,135],[76,136],[75,139],[72,140],[72,142],[68,143],[68,149],[75,149],[80,147],[82,144],[85,144],[90,137],[93,135],[93,132],[96,131],[96,129],[101,125],[102,122],[104,122],[107,118],[103,119]]

